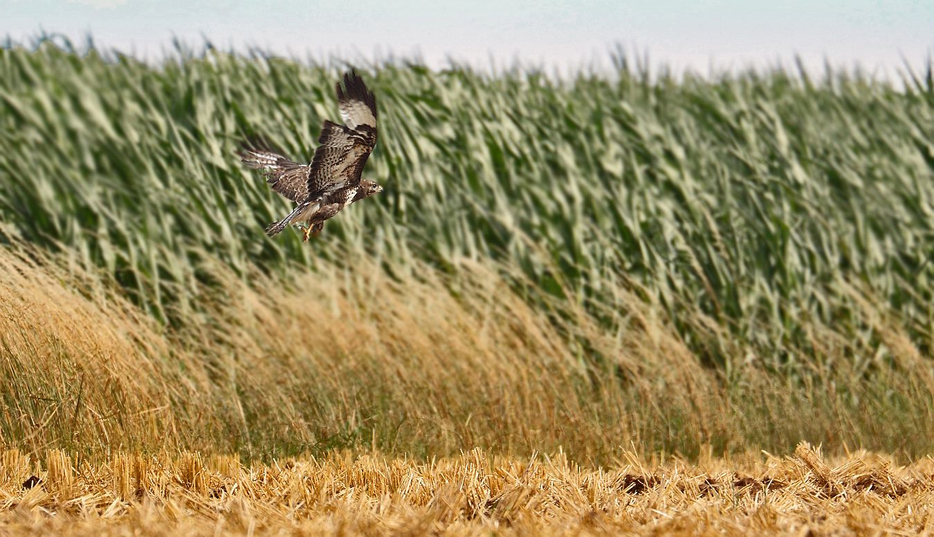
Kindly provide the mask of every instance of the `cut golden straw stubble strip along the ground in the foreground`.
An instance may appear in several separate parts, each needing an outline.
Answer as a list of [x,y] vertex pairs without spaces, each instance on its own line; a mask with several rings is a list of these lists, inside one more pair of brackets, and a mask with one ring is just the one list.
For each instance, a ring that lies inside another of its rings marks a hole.
[[[5,534],[930,534],[934,461],[865,452],[641,459],[581,467],[473,449],[419,462],[332,453],[244,467],[120,454],[99,464],[2,454]],[[31,479],[32,478],[32,479]],[[38,478],[36,483],[35,478]],[[31,480],[32,488],[23,488]],[[810,533],[809,533],[810,531]]]

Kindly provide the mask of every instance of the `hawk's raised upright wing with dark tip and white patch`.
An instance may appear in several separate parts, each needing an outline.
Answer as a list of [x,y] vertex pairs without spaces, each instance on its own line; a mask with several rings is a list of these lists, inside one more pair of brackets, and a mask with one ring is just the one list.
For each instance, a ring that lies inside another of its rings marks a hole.
[[308,174],[312,197],[360,184],[376,145],[376,98],[356,72],[344,76],[344,88],[337,84],[337,102],[347,125],[324,121]]

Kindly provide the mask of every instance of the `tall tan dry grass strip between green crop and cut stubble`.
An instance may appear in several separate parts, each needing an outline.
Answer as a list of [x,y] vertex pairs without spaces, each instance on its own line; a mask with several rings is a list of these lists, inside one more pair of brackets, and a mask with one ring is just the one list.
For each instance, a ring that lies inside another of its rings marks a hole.
[[739,344],[743,371],[703,368],[622,286],[611,291],[627,309],[610,331],[573,305],[531,307],[482,265],[445,279],[355,262],[296,271],[287,287],[205,267],[219,292],[166,328],[66,259],[0,249],[0,445],[267,461],[333,447],[560,448],[591,464],[622,449],[787,453],[802,439],[835,453],[930,448],[917,434],[932,419],[929,360],[869,299],[856,320],[883,350],[857,369],[852,357],[872,348],[814,323],[825,358],[796,380]]

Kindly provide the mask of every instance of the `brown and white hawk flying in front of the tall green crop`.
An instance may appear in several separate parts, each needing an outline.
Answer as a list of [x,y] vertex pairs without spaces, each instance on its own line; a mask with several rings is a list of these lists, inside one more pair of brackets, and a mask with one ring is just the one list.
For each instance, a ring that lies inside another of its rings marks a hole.
[[272,236],[295,222],[306,223],[303,241],[324,228],[324,220],[383,188],[361,179],[366,158],[376,145],[376,98],[356,72],[336,84],[337,103],[344,125],[324,120],[318,148],[310,164],[293,163],[268,148],[243,148],[240,160],[263,171],[272,189],[295,202],[289,216],[266,228]]

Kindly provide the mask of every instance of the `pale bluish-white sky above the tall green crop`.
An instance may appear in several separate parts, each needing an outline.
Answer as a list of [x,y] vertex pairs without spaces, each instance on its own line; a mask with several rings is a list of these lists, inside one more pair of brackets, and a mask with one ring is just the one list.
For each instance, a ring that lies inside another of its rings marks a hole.
[[348,59],[415,54],[432,66],[454,57],[479,66],[608,64],[616,44],[652,64],[701,74],[791,64],[820,70],[860,64],[896,76],[904,57],[920,67],[934,53],[934,0],[0,0],[0,35],[39,31],[150,59],[173,35],[203,35],[219,48],[256,45],[283,55]]

